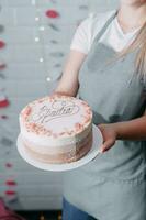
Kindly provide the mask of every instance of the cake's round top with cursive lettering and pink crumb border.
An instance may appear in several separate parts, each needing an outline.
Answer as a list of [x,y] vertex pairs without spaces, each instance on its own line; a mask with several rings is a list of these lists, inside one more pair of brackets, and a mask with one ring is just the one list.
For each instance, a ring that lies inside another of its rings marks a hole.
[[92,111],[86,101],[54,95],[29,103],[20,113],[21,127],[37,135],[74,135],[86,129]]

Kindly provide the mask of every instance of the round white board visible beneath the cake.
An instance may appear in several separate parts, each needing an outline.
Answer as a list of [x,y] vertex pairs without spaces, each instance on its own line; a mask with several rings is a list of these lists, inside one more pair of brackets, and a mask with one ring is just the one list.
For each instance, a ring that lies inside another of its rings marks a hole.
[[20,155],[22,156],[23,160],[25,160],[29,164],[44,170],[52,170],[52,172],[64,172],[64,170],[69,170],[69,169],[75,169],[80,166],[83,166],[85,164],[89,163],[91,160],[93,160],[96,156],[100,154],[99,147],[102,144],[102,134],[101,131],[97,125],[93,124],[93,143],[91,150],[88,152],[86,156],[78,160],[77,162],[71,162],[71,163],[65,163],[65,164],[48,164],[48,163],[43,163],[38,162],[34,158],[32,158],[25,151],[22,140],[21,140],[21,134],[18,136],[18,151]]

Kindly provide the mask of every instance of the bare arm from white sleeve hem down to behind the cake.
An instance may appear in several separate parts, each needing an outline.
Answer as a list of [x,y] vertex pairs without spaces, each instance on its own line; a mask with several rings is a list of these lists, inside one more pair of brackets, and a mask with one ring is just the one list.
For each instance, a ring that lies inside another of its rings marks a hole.
[[54,91],[55,94],[67,96],[77,95],[79,88],[78,73],[86,56],[87,55],[81,52],[70,50],[63,70],[63,76],[59,80],[57,88]]

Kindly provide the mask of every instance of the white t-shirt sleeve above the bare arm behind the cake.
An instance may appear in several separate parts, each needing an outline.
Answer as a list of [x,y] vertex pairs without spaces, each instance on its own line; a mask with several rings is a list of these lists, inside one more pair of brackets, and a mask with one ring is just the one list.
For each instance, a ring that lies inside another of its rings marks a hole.
[[88,54],[91,37],[91,18],[85,19],[77,28],[72,37],[70,50],[76,50]]

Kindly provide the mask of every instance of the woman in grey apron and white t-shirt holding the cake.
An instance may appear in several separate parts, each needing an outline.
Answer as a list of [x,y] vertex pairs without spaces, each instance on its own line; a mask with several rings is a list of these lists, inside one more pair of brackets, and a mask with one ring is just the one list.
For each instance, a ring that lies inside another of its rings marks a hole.
[[102,154],[65,173],[64,220],[146,220],[146,0],[78,28],[55,92],[86,100]]

